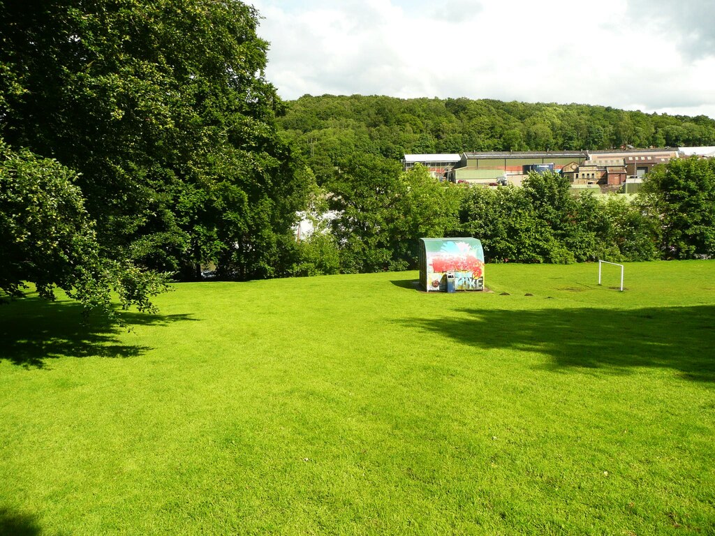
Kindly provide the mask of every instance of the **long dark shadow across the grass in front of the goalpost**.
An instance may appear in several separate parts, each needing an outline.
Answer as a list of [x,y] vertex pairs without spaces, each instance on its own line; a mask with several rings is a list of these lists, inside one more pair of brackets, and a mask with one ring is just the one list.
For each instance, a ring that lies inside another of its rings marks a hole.
[[626,374],[634,367],[673,369],[715,382],[715,307],[643,309],[464,309],[468,317],[405,322],[480,349],[551,357],[547,369],[575,367]]

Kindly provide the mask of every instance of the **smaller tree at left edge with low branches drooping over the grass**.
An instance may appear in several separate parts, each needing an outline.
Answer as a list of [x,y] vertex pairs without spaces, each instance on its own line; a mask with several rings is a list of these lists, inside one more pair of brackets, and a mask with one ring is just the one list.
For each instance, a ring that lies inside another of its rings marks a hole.
[[153,311],[149,298],[167,289],[166,278],[104,257],[76,180],[56,160],[0,142],[0,290],[20,297],[31,282],[54,299],[60,287],[114,319],[116,292],[122,307]]

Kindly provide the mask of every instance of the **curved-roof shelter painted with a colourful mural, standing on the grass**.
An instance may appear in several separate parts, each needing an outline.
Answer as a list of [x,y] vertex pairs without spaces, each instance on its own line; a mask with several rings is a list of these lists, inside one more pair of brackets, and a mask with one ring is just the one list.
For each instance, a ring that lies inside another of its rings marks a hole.
[[445,274],[453,272],[456,290],[484,289],[484,253],[473,238],[422,239],[420,278],[428,292],[445,290]]

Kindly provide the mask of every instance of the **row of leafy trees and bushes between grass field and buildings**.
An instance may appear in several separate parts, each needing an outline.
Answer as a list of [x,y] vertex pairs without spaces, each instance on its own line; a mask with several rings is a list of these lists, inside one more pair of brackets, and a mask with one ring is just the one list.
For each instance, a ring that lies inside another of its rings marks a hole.
[[[523,187],[464,187],[368,155],[345,162],[323,195],[312,213],[318,232],[292,247],[293,275],[415,268],[419,237],[478,238],[487,262],[715,255],[715,159],[656,167],[628,198],[576,194],[554,172],[532,173]],[[321,219],[327,209],[332,217]]]

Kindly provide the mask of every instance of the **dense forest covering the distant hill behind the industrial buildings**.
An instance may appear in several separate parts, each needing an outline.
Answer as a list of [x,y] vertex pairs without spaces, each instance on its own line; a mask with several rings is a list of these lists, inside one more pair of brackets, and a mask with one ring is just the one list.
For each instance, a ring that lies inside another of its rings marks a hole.
[[302,96],[278,119],[317,177],[355,154],[715,145],[715,120],[610,106],[490,99]]

